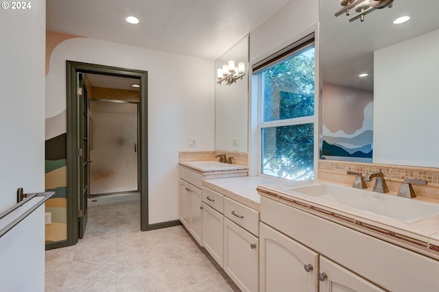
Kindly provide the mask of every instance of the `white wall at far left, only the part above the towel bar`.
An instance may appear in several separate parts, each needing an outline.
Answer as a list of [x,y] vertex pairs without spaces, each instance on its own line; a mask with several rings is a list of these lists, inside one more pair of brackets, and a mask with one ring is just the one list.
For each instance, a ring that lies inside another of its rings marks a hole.
[[0,211],[44,191],[45,0],[0,9]]

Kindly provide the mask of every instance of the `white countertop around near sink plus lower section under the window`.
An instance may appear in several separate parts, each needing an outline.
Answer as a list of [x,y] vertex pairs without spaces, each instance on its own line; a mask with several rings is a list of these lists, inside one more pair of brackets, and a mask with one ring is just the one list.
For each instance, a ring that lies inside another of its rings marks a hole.
[[[290,182],[259,176],[242,176],[204,180],[203,186],[255,210],[260,210],[261,195],[263,195],[335,223],[340,223],[353,230],[439,260],[439,216],[405,223],[372,212],[331,203],[319,197],[300,196],[300,194],[285,191],[288,188],[297,186],[322,183],[339,184],[325,180]],[[346,184],[339,185],[348,186]],[[368,191],[370,191],[370,195],[376,194],[370,189]],[[390,192],[385,195],[395,196],[396,193]],[[420,197],[412,200],[439,204],[435,200]]]

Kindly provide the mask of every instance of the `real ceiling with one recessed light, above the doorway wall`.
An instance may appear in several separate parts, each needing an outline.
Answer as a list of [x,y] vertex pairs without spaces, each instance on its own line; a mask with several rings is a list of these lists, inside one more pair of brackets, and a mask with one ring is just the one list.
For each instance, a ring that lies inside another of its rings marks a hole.
[[[290,0],[47,0],[47,30],[216,60]],[[126,16],[140,23],[131,25]]]

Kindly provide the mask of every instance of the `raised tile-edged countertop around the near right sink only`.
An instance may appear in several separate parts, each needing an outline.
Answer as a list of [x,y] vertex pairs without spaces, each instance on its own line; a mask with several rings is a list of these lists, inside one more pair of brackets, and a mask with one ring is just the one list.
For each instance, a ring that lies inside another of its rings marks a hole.
[[[302,183],[339,184],[325,180]],[[347,186],[346,184],[339,185]],[[311,212],[314,215],[324,217],[335,223],[340,223],[348,228],[439,260],[439,216],[428,217],[412,223],[405,223],[372,212],[331,203],[319,197],[302,196],[300,193],[292,193],[286,191],[288,187],[291,188],[292,186],[288,184],[260,184],[258,189],[259,193],[264,197],[276,199],[283,204],[294,206],[300,210],[305,210],[305,212]],[[368,191],[370,191],[370,195],[377,194],[370,189],[368,189]],[[396,193],[390,192],[380,195],[396,196]],[[416,197],[412,200],[439,204],[439,202],[435,200],[420,197]]]

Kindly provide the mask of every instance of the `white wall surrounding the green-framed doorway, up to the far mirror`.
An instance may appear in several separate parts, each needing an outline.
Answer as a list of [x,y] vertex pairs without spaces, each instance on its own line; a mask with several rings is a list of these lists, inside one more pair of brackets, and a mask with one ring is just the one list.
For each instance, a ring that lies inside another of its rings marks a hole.
[[[91,38],[65,40],[50,58],[47,118],[66,109],[66,60],[148,72],[149,223],[178,219],[178,151],[215,147],[214,62]],[[189,137],[197,147],[187,147]]]

